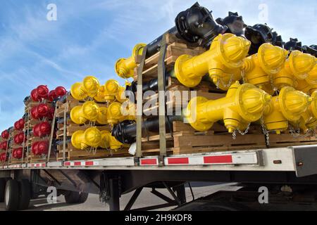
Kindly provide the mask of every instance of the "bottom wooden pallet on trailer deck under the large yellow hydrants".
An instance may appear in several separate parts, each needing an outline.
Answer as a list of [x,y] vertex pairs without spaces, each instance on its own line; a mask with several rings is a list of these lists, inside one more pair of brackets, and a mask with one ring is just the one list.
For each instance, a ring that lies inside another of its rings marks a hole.
[[[199,132],[183,122],[173,122],[173,136],[166,134],[167,151],[170,155],[189,153],[209,153],[226,150],[248,150],[262,148],[282,148],[317,144],[316,136],[294,138],[291,134],[270,134],[270,146],[266,146],[266,137],[261,134],[259,125],[252,125],[248,134],[237,134],[232,138],[225,127],[214,124],[210,131]],[[142,153],[157,155],[159,153],[159,135],[144,136]]]

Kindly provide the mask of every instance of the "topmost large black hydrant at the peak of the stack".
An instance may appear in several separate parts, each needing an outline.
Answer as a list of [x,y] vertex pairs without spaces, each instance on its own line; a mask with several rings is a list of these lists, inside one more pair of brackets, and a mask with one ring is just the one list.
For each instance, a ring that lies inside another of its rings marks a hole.
[[[223,34],[228,29],[228,27],[216,23],[211,13],[212,11],[200,6],[197,2],[177,15],[175,27],[172,27],[168,32],[189,43],[208,47],[218,34]],[[147,45],[147,58],[160,51],[162,39],[163,35]]]

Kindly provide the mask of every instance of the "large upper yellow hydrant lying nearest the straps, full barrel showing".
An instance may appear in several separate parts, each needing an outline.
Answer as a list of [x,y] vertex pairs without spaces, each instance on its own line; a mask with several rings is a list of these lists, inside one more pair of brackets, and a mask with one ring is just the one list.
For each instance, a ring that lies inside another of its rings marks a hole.
[[185,86],[194,87],[207,73],[218,88],[229,86],[242,78],[240,67],[251,42],[235,34],[219,34],[209,51],[199,56],[182,55],[175,62],[175,77]]

